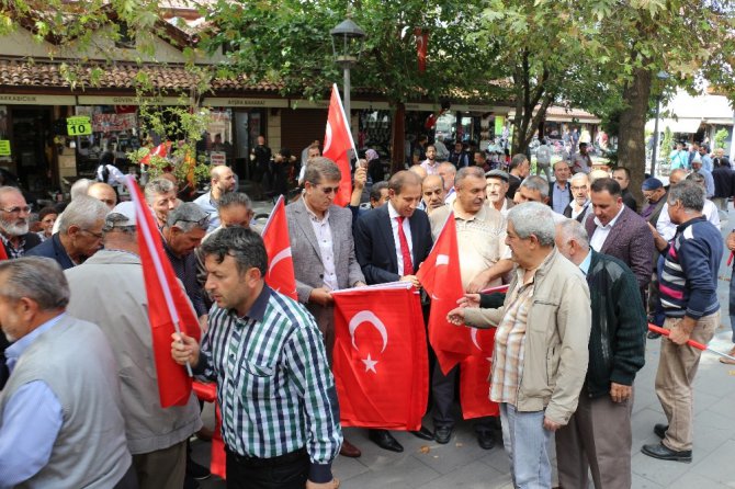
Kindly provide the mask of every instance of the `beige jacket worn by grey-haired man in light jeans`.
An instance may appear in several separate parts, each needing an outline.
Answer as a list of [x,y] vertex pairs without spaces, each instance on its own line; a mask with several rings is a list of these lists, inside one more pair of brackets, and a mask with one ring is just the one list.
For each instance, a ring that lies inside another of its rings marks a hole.
[[[513,274],[509,291],[514,289],[517,282],[518,274]],[[508,294],[504,306],[497,309],[466,309],[465,323],[475,328],[497,327],[509,297],[512,294]],[[517,396],[519,411],[545,409],[546,418],[552,421],[562,425],[569,421],[587,374],[590,326],[585,277],[554,248],[535,273],[523,346],[523,375]]]

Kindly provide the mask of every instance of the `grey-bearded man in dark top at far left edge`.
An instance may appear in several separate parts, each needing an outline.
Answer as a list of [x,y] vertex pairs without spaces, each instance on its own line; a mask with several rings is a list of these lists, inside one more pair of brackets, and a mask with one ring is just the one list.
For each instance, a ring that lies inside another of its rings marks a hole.
[[35,232],[29,232],[29,207],[23,194],[14,186],[0,186],[0,239],[8,258],[21,258],[41,243]]

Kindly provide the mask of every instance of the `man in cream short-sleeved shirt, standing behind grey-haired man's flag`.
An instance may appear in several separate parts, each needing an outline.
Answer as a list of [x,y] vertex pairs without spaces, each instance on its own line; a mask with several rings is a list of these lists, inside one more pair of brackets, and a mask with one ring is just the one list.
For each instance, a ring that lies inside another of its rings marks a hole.
[[[434,240],[453,213],[452,224],[456,228],[457,248],[462,250],[459,253],[459,265],[463,291],[475,292],[486,285],[500,285],[502,275],[512,269],[512,262],[505,243],[506,219],[498,211],[485,205],[485,172],[479,167],[461,168],[456,173],[454,187],[454,203],[437,208],[429,217]],[[491,353],[487,352],[486,356]],[[440,368],[434,368],[431,378],[434,437],[439,443],[449,443],[452,435],[452,402],[459,373],[460,368],[456,366],[446,375]],[[490,450],[495,445],[489,416],[498,416],[497,405],[488,403],[487,416],[475,423],[477,443],[484,450]]]

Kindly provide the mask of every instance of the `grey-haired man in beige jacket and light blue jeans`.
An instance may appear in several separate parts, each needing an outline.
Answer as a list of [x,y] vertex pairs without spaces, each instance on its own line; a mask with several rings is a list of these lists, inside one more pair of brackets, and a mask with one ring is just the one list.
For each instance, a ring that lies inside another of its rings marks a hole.
[[477,308],[474,295],[449,314],[455,325],[497,328],[490,399],[500,403],[519,488],[551,487],[551,435],[575,412],[587,373],[589,289],[579,269],[554,247],[551,213],[539,203],[508,213],[506,243],[518,266],[502,307]]

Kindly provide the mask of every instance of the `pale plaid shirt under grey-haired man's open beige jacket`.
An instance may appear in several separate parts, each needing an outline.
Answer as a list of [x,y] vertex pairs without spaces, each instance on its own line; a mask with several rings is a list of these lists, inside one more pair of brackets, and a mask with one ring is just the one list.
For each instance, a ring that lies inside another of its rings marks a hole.
[[529,308],[533,302],[535,272],[523,283],[523,269],[518,269],[517,286],[511,293],[502,321],[495,333],[495,354],[490,400],[516,406],[523,377],[523,354]]

